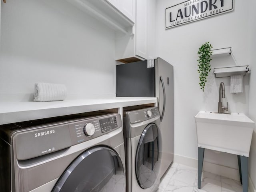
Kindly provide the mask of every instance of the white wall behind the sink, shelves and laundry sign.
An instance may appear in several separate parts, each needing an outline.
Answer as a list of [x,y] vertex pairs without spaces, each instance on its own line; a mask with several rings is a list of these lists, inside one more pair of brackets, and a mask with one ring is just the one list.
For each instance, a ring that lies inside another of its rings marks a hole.
[[[165,29],[165,9],[183,0],[158,0],[156,18],[156,56],[174,66],[174,154],[198,158],[196,125],[194,116],[200,110],[217,111],[219,85],[224,82],[230,112],[248,114],[249,78],[244,78],[244,93],[230,94],[230,78],[214,78],[213,68],[235,65],[232,56],[213,58],[212,72],[204,92],[198,78],[198,48],[210,41],[213,49],[232,47],[238,65],[246,65],[248,59],[248,4],[234,2],[234,10],[225,14]],[[238,168],[235,155],[206,150],[206,161]]]

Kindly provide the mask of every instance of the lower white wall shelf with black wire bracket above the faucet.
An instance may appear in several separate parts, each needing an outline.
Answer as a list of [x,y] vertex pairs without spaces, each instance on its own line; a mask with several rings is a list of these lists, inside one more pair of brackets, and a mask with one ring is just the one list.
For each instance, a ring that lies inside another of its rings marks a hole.
[[245,76],[246,72],[249,71],[249,66],[233,66],[233,67],[222,67],[222,68],[214,68],[213,73],[216,78],[218,77],[230,77],[231,74],[241,73]]

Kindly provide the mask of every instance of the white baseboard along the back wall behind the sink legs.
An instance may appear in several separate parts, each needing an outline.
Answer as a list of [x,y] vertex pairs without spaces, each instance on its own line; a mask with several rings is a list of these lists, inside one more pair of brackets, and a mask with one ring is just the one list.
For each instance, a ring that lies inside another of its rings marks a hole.
[[[176,154],[174,154],[173,161],[176,163],[184,164],[186,166],[190,166],[190,167],[194,167],[194,168],[197,168],[197,166],[198,166],[197,159],[184,157],[184,156],[180,156],[180,155],[176,155]],[[203,165],[204,165],[203,166],[204,171],[211,172],[211,173],[214,173],[214,174],[217,174],[220,176],[224,176],[227,178],[231,178],[231,179],[240,181],[238,169],[234,169],[234,168],[230,168],[230,167],[226,167],[226,166],[222,166],[222,165],[218,165],[218,164],[213,164],[213,163],[210,163],[207,161],[204,161]]]

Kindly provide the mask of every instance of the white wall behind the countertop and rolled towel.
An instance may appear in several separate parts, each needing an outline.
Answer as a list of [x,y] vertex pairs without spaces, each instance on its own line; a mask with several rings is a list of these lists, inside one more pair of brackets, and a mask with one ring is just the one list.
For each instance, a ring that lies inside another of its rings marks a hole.
[[32,100],[36,82],[65,84],[68,99],[115,96],[114,31],[64,0],[1,10],[1,101]]

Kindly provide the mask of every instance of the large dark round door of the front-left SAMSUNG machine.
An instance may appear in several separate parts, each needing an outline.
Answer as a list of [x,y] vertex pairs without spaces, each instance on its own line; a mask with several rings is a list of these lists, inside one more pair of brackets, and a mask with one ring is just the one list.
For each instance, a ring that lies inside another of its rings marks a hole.
[[120,156],[105,146],[78,156],[52,192],[125,192],[125,170]]

